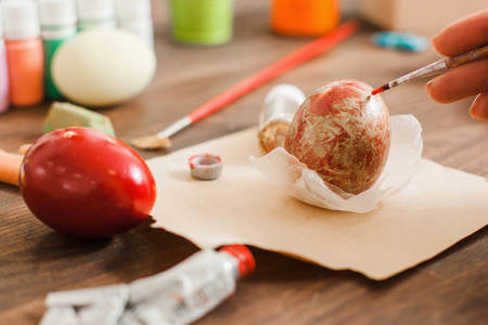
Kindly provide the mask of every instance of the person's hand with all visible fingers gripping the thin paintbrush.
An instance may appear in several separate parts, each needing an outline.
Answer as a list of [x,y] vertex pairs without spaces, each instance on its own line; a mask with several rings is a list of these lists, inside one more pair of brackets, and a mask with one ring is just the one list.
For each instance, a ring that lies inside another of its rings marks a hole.
[[[488,43],[488,9],[473,13],[444,28],[431,40],[445,56],[454,56]],[[459,66],[425,84],[438,103],[452,103],[477,95],[470,115],[488,120],[488,57]]]

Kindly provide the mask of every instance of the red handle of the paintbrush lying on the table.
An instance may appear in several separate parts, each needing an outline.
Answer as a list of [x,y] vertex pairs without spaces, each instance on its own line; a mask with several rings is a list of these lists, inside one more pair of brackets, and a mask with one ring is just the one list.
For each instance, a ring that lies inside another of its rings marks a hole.
[[257,87],[268,82],[269,80],[284,74],[285,72],[296,67],[305,61],[329,50],[338,42],[345,40],[359,29],[357,21],[348,21],[338,26],[334,31],[324,35],[317,40],[306,44],[275,63],[265,67],[256,74],[240,81],[235,86],[223,91],[219,95],[204,103],[188,115],[192,122],[195,122],[214,112],[222,108],[227,104],[235,101],[242,95],[256,89]]

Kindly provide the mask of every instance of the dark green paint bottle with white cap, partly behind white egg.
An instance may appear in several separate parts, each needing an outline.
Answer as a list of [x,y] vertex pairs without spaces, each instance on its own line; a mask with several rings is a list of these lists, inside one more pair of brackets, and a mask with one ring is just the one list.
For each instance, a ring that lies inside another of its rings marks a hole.
[[39,0],[42,44],[44,49],[44,91],[51,100],[63,95],[51,77],[51,61],[57,48],[76,35],[75,0]]

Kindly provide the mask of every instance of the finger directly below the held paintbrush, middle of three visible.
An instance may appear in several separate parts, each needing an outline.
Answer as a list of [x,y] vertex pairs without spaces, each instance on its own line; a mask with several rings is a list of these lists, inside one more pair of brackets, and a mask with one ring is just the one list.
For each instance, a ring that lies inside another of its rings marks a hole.
[[459,66],[425,84],[436,102],[451,103],[488,92],[488,57]]

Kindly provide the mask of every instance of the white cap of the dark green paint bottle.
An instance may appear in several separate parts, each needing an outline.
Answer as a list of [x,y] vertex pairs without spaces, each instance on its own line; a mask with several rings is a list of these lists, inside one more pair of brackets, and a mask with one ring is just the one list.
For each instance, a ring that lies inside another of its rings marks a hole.
[[41,26],[75,25],[75,0],[39,0],[39,14]]

